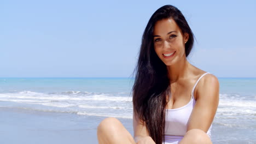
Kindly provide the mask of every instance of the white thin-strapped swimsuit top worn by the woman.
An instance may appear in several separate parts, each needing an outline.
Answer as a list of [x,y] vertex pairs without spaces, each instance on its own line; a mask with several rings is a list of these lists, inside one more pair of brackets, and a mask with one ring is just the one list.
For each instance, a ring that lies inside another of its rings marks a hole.
[[[206,74],[205,73],[199,77],[196,81],[192,92],[191,92],[191,100],[187,105],[179,107],[178,109],[167,109],[165,116],[165,143],[163,144],[177,144],[179,141],[183,139],[183,136],[187,133],[188,120],[193,110],[193,107],[196,103],[194,98],[194,89],[199,82],[199,80]],[[207,131],[207,135],[211,137],[211,127]]]

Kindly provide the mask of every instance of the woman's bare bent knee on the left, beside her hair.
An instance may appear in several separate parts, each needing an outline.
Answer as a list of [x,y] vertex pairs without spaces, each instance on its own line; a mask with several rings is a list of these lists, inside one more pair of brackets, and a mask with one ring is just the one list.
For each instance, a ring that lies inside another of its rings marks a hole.
[[103,119],[98,125],[97,136],[99,144],[135,144],[129,131],[117,118],[113,117]]

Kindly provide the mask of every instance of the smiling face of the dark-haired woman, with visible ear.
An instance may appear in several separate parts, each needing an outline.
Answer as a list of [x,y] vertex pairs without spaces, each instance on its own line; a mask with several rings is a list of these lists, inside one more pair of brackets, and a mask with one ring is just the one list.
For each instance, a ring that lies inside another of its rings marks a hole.
[[185,43],[188,33],[182,34],[173,19],[157,21],[154,26],[154,49],[166,65],[172,65],[185,57]]

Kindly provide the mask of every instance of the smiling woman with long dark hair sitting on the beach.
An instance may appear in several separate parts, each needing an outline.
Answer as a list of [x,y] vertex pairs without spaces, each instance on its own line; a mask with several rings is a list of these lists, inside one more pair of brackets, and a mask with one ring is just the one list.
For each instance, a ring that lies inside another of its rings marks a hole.
[[187,61],[193,43],[181,11],[172,5],[155,11],[133,85],[134,139],[118,119],[106,118],[98,126],[99,143],[212,143],[219,82]]

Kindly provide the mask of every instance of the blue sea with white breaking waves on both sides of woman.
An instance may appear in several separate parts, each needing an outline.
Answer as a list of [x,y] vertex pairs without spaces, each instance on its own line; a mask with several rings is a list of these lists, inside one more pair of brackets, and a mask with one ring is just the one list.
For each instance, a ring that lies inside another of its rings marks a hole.
[[[256,78],[218,79],[213,143],[256,143]],[[132,119],[133,82],[132,78],[0,78],[0,108]]]

